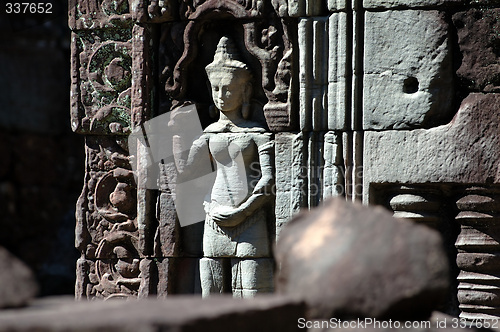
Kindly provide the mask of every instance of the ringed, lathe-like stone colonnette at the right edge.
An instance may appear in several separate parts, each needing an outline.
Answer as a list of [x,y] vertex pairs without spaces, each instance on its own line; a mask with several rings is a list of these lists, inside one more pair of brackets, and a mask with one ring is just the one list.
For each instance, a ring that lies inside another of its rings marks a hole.
[[460,317],[500,316],[500,195],[468,188],[456,202],[461,225],[456,247]]

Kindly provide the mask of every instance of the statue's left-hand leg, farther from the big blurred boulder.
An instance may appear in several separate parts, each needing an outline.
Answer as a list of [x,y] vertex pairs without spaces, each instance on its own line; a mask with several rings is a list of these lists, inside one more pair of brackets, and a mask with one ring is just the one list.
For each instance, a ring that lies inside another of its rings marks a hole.
[[227,290],[226,277],[227,274],[224,264],[224,258],[202,258],[200,260],[200,280],[201,280],[201,295],[207,297],[210,294],[221,294]]

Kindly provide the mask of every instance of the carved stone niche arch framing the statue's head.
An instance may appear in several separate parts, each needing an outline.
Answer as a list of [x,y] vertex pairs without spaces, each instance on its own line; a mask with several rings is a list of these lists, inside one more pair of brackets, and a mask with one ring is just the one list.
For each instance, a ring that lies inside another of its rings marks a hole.
[[[218,15],[219,20],[211,20],[213,15]],[[240,4],[212,0],[197,7],[189,16],[192,21],[167,24],[162,37],[166,51],[161,55],[162,82],[165,82],[167,95],[177,102],[185,98],[209,102],[206,93],[196,96],[198,89],[192,86],[196,84],[192,77],[202,74],[203,65],[210,61],[217,40],[229,32],[239,48],[245,50],[243,57],[255,72],[256,80],[262,82],[256,87],[255,98],[264,106],[267,125],[274,131],[293,128],[291,89],[295,36],[290,27],[294,21],[280,19],[272,13],[266,20],[234,21],[255,17],[258,16],[252,10]],[[229,31],[228,25],[232,27]],[[173,52],[168,45],[172,45]],[[200,57],[203,63],[196,63],[195,59]]]

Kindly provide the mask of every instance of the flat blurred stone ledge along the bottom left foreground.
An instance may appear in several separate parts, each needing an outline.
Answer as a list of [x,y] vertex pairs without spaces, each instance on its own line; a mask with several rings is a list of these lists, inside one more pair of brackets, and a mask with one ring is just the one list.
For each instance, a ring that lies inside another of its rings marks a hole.
[[40,300],[25,310],[0,312],[0,331],[301,331],[298,300],[280,296],[235,300],[170,297],[165,301]]

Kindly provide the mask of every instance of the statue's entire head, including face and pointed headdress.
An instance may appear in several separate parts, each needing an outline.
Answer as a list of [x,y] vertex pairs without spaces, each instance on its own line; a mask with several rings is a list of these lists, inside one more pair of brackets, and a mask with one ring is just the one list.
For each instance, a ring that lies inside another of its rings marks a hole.
[[240,60],[234,43],[222,37],[217,44],[214,60],[205,67],[212,87],[215,107],[231,112],[250,102],[252,73]]

